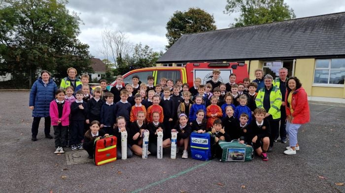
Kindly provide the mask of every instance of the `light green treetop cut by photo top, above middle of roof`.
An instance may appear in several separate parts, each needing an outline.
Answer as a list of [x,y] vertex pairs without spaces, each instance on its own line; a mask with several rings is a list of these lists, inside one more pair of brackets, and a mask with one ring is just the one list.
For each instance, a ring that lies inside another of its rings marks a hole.
[[296,18],[296,15],[284,0],[227,0],[224,13],[231,15],[241,12],[232,27],[243,27]]

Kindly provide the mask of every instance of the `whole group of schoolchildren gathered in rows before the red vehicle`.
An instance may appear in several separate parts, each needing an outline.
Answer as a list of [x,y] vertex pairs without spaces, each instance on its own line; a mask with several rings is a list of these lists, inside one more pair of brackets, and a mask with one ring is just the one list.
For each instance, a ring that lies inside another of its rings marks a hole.
[[[106,81],[92,95],[88,85],[73,93],[73,88],[56,92],[56,100],[50,105],[54,126],[54,153],[64,153],[63,147],[72,150],[85,149],[93,158],[92,142],[101,136],[128,132],[127,158],[141,156],[143,132],[149,132],[149,154],[157,154],[157,132],[163,132],[163,148],[171,145],[171,132],[177,131],[177,146],[183,147],[182,158],[188,158],[189,136],[192,131],[211,131],[218,140],[240,140],[252,145],[264,161],[268,161],[270,125],[264,119],[266,111],[256,108],[256,83],[245,78],[236,84],[231,74],[229,83],[221,83],[220,71],[212,72],[212,79],[201,85],[196,78],[194,86],[182,84],[182,80],[161,78],[153,85],[154,77],[147,77],[147,84],[139,84],[139,77],[132,77],[132,84],[124,86],[123,77],[116,77],[116,85],[110,91]],[[254,116],[254,117],[252,117]],[[121,148],[118,140],[117,148]],[[117,151],[121,159],[121,151]]]

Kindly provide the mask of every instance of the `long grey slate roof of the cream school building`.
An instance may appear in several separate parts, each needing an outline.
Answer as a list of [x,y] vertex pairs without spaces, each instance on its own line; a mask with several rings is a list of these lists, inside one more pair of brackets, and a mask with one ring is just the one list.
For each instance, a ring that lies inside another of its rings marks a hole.
[[182,35],[157,63],[345,56],[345,12]]

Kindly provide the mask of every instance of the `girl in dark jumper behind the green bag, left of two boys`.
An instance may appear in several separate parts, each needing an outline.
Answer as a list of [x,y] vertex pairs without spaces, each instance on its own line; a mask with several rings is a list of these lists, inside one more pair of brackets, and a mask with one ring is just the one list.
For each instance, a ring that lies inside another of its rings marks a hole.
[[229,105],[225,107],[225,113],[226,117],[222,120],[225,133],[227,133],[227,135],[225,135],[225,140],[231,141],[237,139],[235,128],[238,126],[239,121],[234,117],[234,108],[232,106]]

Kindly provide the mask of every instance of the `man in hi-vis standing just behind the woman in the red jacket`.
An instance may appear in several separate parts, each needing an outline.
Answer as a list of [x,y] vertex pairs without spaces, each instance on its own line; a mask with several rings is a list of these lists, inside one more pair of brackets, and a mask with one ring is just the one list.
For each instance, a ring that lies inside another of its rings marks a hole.
[[275,86],[279,88],[282,100],[280,106],[280,127],[279,132],[276,133],[275,142],[277,141],[280,135],[280,142],[286,143],[286,111],[285,111],[285,93],[286,93],[286,77],[287,77],[287,69],[282,67],[279,69],[279,78],[275,80]]

